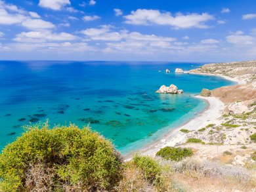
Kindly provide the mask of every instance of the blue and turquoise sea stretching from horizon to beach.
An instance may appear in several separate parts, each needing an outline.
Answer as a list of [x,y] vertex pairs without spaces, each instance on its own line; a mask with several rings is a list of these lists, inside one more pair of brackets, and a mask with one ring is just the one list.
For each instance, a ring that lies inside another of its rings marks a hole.
[[[90,126],[122,153],[192,119],[207,104],[202,88],[232,85],[219,77],[175,74],[202,64],[172,62],[0,62],[0,149],[30,123]],[[171,73],[164,73],[165,69]],[[159,72],[161,71],[161,72]],[[175,84],[184,93],[156,94]]]

